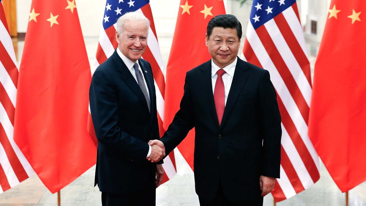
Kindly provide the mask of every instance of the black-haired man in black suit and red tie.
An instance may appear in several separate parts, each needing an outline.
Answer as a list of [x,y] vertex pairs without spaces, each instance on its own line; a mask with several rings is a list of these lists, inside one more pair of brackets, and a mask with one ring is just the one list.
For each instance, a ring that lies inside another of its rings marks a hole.
[[218,15],[207,26],[212,59],[186,74],[180,110],[158,144],[168,154],[195,127],[200,205],[263,205],[280,177],[281,116],[269,72],[237,57],[242,26]]

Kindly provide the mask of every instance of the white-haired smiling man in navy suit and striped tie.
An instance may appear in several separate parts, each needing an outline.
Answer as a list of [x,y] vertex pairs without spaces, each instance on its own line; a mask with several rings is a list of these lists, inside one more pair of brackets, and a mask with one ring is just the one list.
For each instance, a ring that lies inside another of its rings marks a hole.
[[90,111],[98,139],[95,185],[103,206],[155,205],[155,190],[163,181],[165,153],[147,144],[160,137],[153,73],[141,59],[148,31],[144,15],[121,16],[118,48],[91,80]]

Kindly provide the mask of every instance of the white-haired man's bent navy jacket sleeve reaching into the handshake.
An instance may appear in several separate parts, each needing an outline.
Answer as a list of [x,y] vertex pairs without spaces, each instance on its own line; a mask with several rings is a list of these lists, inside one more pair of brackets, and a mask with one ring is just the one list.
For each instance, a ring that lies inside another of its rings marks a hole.
[[96,70],[89,89],[90,112],[95,134],[101,144],[116,154],[135,160],[146,161],[149,145],[124,132],[118,121],[118,102],[112,79],[104,70]]

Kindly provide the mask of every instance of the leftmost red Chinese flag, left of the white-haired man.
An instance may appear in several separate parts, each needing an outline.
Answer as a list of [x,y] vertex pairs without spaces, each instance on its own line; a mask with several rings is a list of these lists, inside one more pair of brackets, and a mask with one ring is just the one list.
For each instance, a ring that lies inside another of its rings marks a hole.
[[90,81],[75,0],[33,0],[14,140],[52,193],[96,163],[96,145],[87,131]]

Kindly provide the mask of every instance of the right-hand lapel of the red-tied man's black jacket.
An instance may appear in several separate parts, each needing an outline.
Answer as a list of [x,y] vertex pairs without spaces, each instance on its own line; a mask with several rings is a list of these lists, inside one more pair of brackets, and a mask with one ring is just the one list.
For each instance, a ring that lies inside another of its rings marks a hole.
[[232,107],[235,104],[236,99],[242,91],[247,78],[249,77],[248,67],[244,64],[244,61],[238,58],[238,62],[236,63],[234,77],[232,79],[228,99],[226,101],[226,106],[223,114],[223,119],[221,121],[220,129],[225,124],[226,119],[228,118]]

